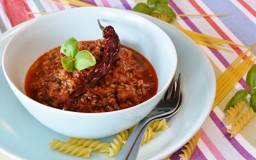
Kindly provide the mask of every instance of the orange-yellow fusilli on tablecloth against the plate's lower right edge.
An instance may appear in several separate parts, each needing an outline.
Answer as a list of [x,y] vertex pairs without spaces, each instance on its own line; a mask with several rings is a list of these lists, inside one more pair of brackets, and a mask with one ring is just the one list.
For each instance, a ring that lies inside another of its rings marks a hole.
[[180,160],[188,160],[196,148],[198,139],[200,138],[200,130],[194,135],[194,137],[184,145],[186,149],[182,150],[183,154],[179,154]]

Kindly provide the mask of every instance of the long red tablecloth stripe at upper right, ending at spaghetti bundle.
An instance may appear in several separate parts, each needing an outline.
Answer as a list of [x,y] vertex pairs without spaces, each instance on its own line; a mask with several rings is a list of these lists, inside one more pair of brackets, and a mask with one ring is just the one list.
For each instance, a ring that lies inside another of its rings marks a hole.
[[[193,6],[194,8],[196,8],[196,10],[200,13],[200,14],[207,14],[194,0],[188,0]],[[229,40],[232,41],[228,35],[223,32],[223,30],[212,20],[212,18],[210,17],[205,17],[206,21],[212,26],[212,28],[214,28],[214,30],[216,30],[216,32],[218,32],[218,34],[220,34],[220,36],[224,39],[224,40]],[[234,49],[234,51],[239,55],[242,53],[242,50],[240,50],[240,48],[238,46],[234,46],[234,45],[230,45],[230,47],[232,47]],[[244,56],[244,60],[247,58],[247,56]]]

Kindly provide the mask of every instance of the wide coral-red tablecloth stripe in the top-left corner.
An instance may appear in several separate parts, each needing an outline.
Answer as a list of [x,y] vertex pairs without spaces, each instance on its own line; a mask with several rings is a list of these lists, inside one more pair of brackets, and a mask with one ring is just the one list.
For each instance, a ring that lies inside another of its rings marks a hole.
[[31,10],[26,0],[0,0],[0,2],[12,26],[16,26],[35,17],[32,14],[27,14]]

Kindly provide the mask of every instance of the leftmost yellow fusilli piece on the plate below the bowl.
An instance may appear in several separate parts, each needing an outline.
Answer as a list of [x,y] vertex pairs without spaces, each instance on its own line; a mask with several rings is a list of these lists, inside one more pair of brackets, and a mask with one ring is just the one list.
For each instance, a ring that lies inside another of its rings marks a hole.
[[64,141],[52,139],[49,143],[52,150],[57,149],[58,152],[68,153],[70,155],[80,156],[82,158],[90,157],[90,152],[92,148],[85,148],[83,146],[78,146],[77,144],[70,144]]

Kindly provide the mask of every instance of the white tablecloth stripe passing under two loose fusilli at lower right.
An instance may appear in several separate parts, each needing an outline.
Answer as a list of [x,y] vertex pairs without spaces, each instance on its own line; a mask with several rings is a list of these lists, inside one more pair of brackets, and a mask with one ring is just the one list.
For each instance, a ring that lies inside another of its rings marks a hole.
[[[225,117],[223,112],[218,107],[214,108],[214,112],[216,113],[218,118],[220,118],[220,120],[222,120]],[[231,125],[228,125],[226,127],[230,129]],[[254,148],[250,143],[248,143],[248,141],[244,139],[244,137],[240,133],[237,134],[234,138],[236,138],[236,140],[241,144],[242,147],[244,147],[245,150],[247,150],[247,152],[249,152],[252,156],[254,156],[254,158],[256,158],[256,148]]]

